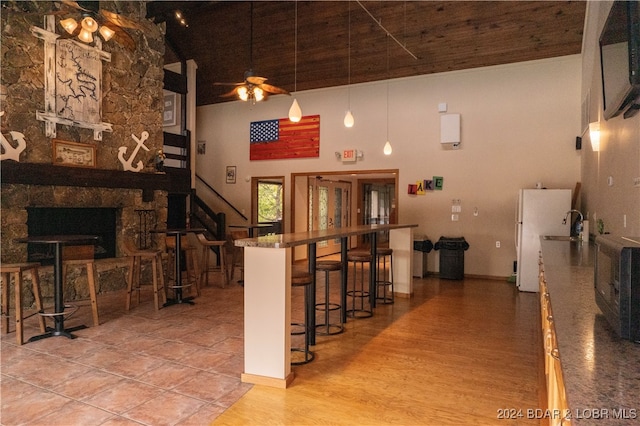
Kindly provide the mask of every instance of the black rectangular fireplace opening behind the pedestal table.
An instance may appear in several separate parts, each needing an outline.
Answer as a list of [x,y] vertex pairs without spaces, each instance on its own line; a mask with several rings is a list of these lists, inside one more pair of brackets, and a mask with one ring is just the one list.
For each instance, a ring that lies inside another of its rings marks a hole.
[[[95,259],[116,256],[116,208],[27,207],[29,236],[97,235]],[[53,246],[27,244],[29,262],[52,265]]]

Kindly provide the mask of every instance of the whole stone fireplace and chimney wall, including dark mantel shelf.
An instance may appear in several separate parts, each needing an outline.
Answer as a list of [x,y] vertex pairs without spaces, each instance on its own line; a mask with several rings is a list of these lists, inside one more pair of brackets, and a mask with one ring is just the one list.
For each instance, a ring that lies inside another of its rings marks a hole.
[[[123,244],[138,241],[140,215],[137,211],[152,211],[157,225],[164,227],[168,193],[185,191],[184,179],[155,173],[153,167],[154,157],[163,147],[163,25],[145,18],[146,2],[120,2],[118,7],[118,12],[139,23],[140,29],[129,30],[135,42],[132,46],[114,41],[102,44],[101,49],[110,60],[100,61],[101,90],[96,93],[100,94],[99,121],[108,123],[110,129],[102,132],[100,138],[96,138],[92,128],[78,125],[73,120],[60,119],[51,125],[39,119],[43,114],[55,113],[51,110],[51,105],[55,105],[52,103],[55,97],[52,96],[55,86],[51,85],[53,70],[47,66],[58,65],[47,59],[47,55],[55,58],[59,51],[52,51],[50,38],[47,41],[37,37],[35,34],[38,32],[32,32],[35,27],[60,32],[58,18],[49,15],[52,10],[50,2],[9,2],[6,5],[3,2],[0,15],[0,27],[3,29],[0,33],[0,104],[3,112],[0,121],[3,138],[12,145],[5,147],[3,144],[2,154],[7,150],[15,151],[11,159],[3,158],[0,166],[1,261],[27,261],[27,244],[15,240],[31,232],[32,212],[40,209],[106,209],[115,213],[115,223],[109,231],[113,234],[109,253],[104,258],[100,258],[100,254],[96,256],[99,292],[126,285],[128,259],[124,256]],[[47,26],[46,23],[52,20],[55,25]],[[22,147],[16,146],[9,132],[21,135]],[[136,150],[134,158],[134,149],[141,139],[144,139],[146,148]],[[92,162],[84,164],[84,167],[54,164],[56,140],[82,146],[92,153]],[[140,161],[144,169],[132,172],[125,168],[119,156],[123,150],[132,164]],[[188,191],[189,175],[186,172]],[[176,185],[178,180],[179,185]],[[70,229],[65,232],[102,232],[97,224],[87,224],[83,219],[75,222],[72,221]],[[83,228],[85,225],[87,227]],[[56,226],[45,225],[37,232],[54,234],[57,231]],[[152,236],[151,242],[157,247],[164,247],[160,235]],[[52,269],[52,266],[40,269],[45,299],[52,295]],[[69,271],[69,275],[65,296],[70,299],[84,296],[86,284],[82,280],[86,281],[86,274]],[[29,285],[24,285],[26,294],[29,293]],[[27,297],[25,305],[28,304]]]

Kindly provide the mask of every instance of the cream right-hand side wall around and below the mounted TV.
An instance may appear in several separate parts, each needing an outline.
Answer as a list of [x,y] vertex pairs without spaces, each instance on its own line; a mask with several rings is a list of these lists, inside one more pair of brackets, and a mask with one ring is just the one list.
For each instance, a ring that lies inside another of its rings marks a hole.
[[[640,114],[624,119],[621,115],[603,118],[602,79],[598,39],[611,9],[611,1],[588,2],[582,61],[582,99],[588,99],[590,122],[600,123],[600,151],[591,149],[589,132],[583,137],[582,176],[584,213],[602,219],[605,232],[615,235],[640,235]],[[611,177],[613,185],[608,184]],[[626,227],[625,227],[626,217]]]

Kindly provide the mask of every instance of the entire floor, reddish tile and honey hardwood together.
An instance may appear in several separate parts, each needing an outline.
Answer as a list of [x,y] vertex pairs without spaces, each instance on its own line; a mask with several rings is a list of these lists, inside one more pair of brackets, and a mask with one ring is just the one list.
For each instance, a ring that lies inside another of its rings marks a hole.
[[[240,382],[244,289],[218,285],[160,311],[149,286],[128,313],[124,292],[100,294],[100,326],[74,340],[17,346],[15,333],[2,335],[0,425],[537,423],[526,418],[544,368],[537,296],[513,284],[416,279],[413,298],[319,336],[316,359],[293,367],[286,390]],[[81,304],[66,324],[91,324],[91,309]],[[25,338],[38,333],[27,319]],[[501,420],[500,409],[525,417]]]

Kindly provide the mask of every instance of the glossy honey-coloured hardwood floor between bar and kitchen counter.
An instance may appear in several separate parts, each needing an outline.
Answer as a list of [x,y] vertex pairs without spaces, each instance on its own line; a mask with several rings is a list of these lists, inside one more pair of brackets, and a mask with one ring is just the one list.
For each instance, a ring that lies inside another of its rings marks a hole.
[[[474,279],[414,287],[318,337],[291,387],[255,385],[214,424],[537,424],[536,294]],[[500,419],[504,409],[522,417]]]

